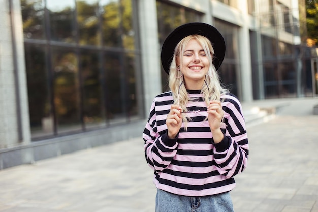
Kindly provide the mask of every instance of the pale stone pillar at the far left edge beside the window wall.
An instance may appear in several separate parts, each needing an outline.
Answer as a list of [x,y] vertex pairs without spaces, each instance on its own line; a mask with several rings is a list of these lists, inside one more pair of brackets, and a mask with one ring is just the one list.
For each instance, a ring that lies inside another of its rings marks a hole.
[[29,143],[30,131],[20,4],[0,4],[0,148],[7,148]]

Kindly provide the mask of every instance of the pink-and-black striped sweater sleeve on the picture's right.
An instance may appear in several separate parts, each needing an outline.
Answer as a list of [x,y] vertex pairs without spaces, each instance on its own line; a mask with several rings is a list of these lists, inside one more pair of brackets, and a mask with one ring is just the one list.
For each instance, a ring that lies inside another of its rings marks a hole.
[[222,108],[225,111],[225,136],[220,143],[214,144],[214,160],[219,173],[231,178],[247,166],[247,132],[242,107],[236,97],[227,95]]

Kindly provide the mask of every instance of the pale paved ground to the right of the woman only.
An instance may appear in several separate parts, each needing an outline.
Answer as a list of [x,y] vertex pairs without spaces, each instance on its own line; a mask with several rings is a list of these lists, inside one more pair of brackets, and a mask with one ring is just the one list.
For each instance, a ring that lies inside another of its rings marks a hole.
[[262,103],[275,106],[276,117],[248,128],[249,164],[231,193],[235,211],[318,212],[318,99]]

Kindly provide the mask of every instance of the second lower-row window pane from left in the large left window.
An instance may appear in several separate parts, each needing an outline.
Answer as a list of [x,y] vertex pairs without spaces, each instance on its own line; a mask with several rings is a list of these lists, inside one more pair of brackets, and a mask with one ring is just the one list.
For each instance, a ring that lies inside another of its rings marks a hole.
[[79,81],[75,52],[52,49],[53,89],[58,133],[81,129]]

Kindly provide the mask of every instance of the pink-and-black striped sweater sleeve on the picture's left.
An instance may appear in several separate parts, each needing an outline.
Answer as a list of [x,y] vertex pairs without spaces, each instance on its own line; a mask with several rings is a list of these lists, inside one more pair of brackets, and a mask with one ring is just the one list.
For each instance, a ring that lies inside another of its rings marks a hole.
[[162,135],[157,132],[155,101],[151,105],[149,118],[142,137],[148,165],[155,172],[161,172],[171,163],[177,153],[178,136],[170,139],[168,138],[167,131]]

